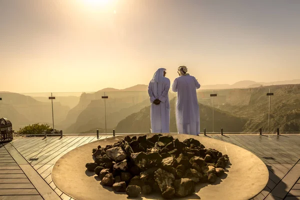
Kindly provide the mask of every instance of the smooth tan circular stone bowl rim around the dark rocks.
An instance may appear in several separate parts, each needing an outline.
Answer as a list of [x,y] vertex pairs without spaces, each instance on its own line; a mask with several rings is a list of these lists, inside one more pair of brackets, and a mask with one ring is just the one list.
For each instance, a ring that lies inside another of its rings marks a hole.
[[[134,134],[135,136],[144,134]],[[129,135],[134,136],[134,135]],[[147,137],[153,134],[147,134]],[[199,140],[205,148],[214,148],[229,156],[226,172],[214,184],[198,183],[193,195],[178,199],[250,199],[258,194],[268,181],[265,164],[253,153],[244,148],[209,136],[171,134],[183,141],[186,138]],[[85,168],[87,162],[93,162],[92,148],[113,144],[124,136],[110,137],[79,146],[59,158],[53,169],[52,179],[56,186],[77,200],[127,199],[126,193],[113,192],[111,187],[103,187],[93,172]],[[137,199],[161,199],[160,194],[141,195]]]

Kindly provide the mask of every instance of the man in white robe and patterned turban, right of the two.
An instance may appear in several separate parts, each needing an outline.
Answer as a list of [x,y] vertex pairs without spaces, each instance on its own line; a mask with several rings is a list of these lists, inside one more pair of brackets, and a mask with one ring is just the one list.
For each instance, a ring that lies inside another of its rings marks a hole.
[[200,84],[187,73],[186,66],[179,66],[177,72],[179,77],[172,84],[172,90],[177,92],[177,131],[180,134],[197,135],[200,133],[200,115],[196,89],[200,88]]

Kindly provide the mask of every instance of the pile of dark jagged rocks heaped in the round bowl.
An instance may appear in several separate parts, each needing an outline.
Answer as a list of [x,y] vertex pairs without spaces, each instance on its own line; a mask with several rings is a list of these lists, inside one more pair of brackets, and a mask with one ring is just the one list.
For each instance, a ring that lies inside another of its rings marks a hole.
[[129,197],[160,192],[163,198],[192,194],[197,182],[214,183],[224,173],[228,156],[206,149],[198,140],[183,142],[171,135],[125,136],[118,142],[92,149],[86,163],[101,184]]

